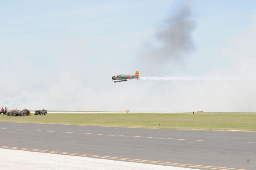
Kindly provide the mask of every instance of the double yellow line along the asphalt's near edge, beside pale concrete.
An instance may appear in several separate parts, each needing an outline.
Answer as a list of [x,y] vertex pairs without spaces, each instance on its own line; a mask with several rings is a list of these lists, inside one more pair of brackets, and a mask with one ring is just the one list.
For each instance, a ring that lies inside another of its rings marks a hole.
[[168,166],[176,166],[176,167],[203,168],[203,169],[206,169],[206,170],[244,170],[244,169],[229,168],[229,167],[215,167],[215,166],[206,166],[206,165],[180,164],[180,163],[174,163],[174,162],[151,161],[151,160],[132,159],[132,158],[119,158],[119,157],[112,157],[112,156],[98,156],[98,155],[81,154],[81,153],[67,153],[67,152],[59,152],[59,151],[52,151],[52,150],[29,149],[29,148],[22,148],[22,147],[0,146],[0,148],[12,149],[12,150],[25,150],[25,151],[30,151],[30,152],[61,154],[61,155],[69,155],[69,156],[103,158],[103,159],[140,162],[140,163],[148,163],[148,164],[159,164],[159,165],[168,165]]

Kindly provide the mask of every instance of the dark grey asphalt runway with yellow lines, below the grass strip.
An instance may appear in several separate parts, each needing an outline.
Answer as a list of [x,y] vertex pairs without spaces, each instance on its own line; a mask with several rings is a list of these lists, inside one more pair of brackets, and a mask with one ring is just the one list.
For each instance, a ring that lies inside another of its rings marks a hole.
[[202,170],[256,170],[256,132],[0,122],[0,148]]

